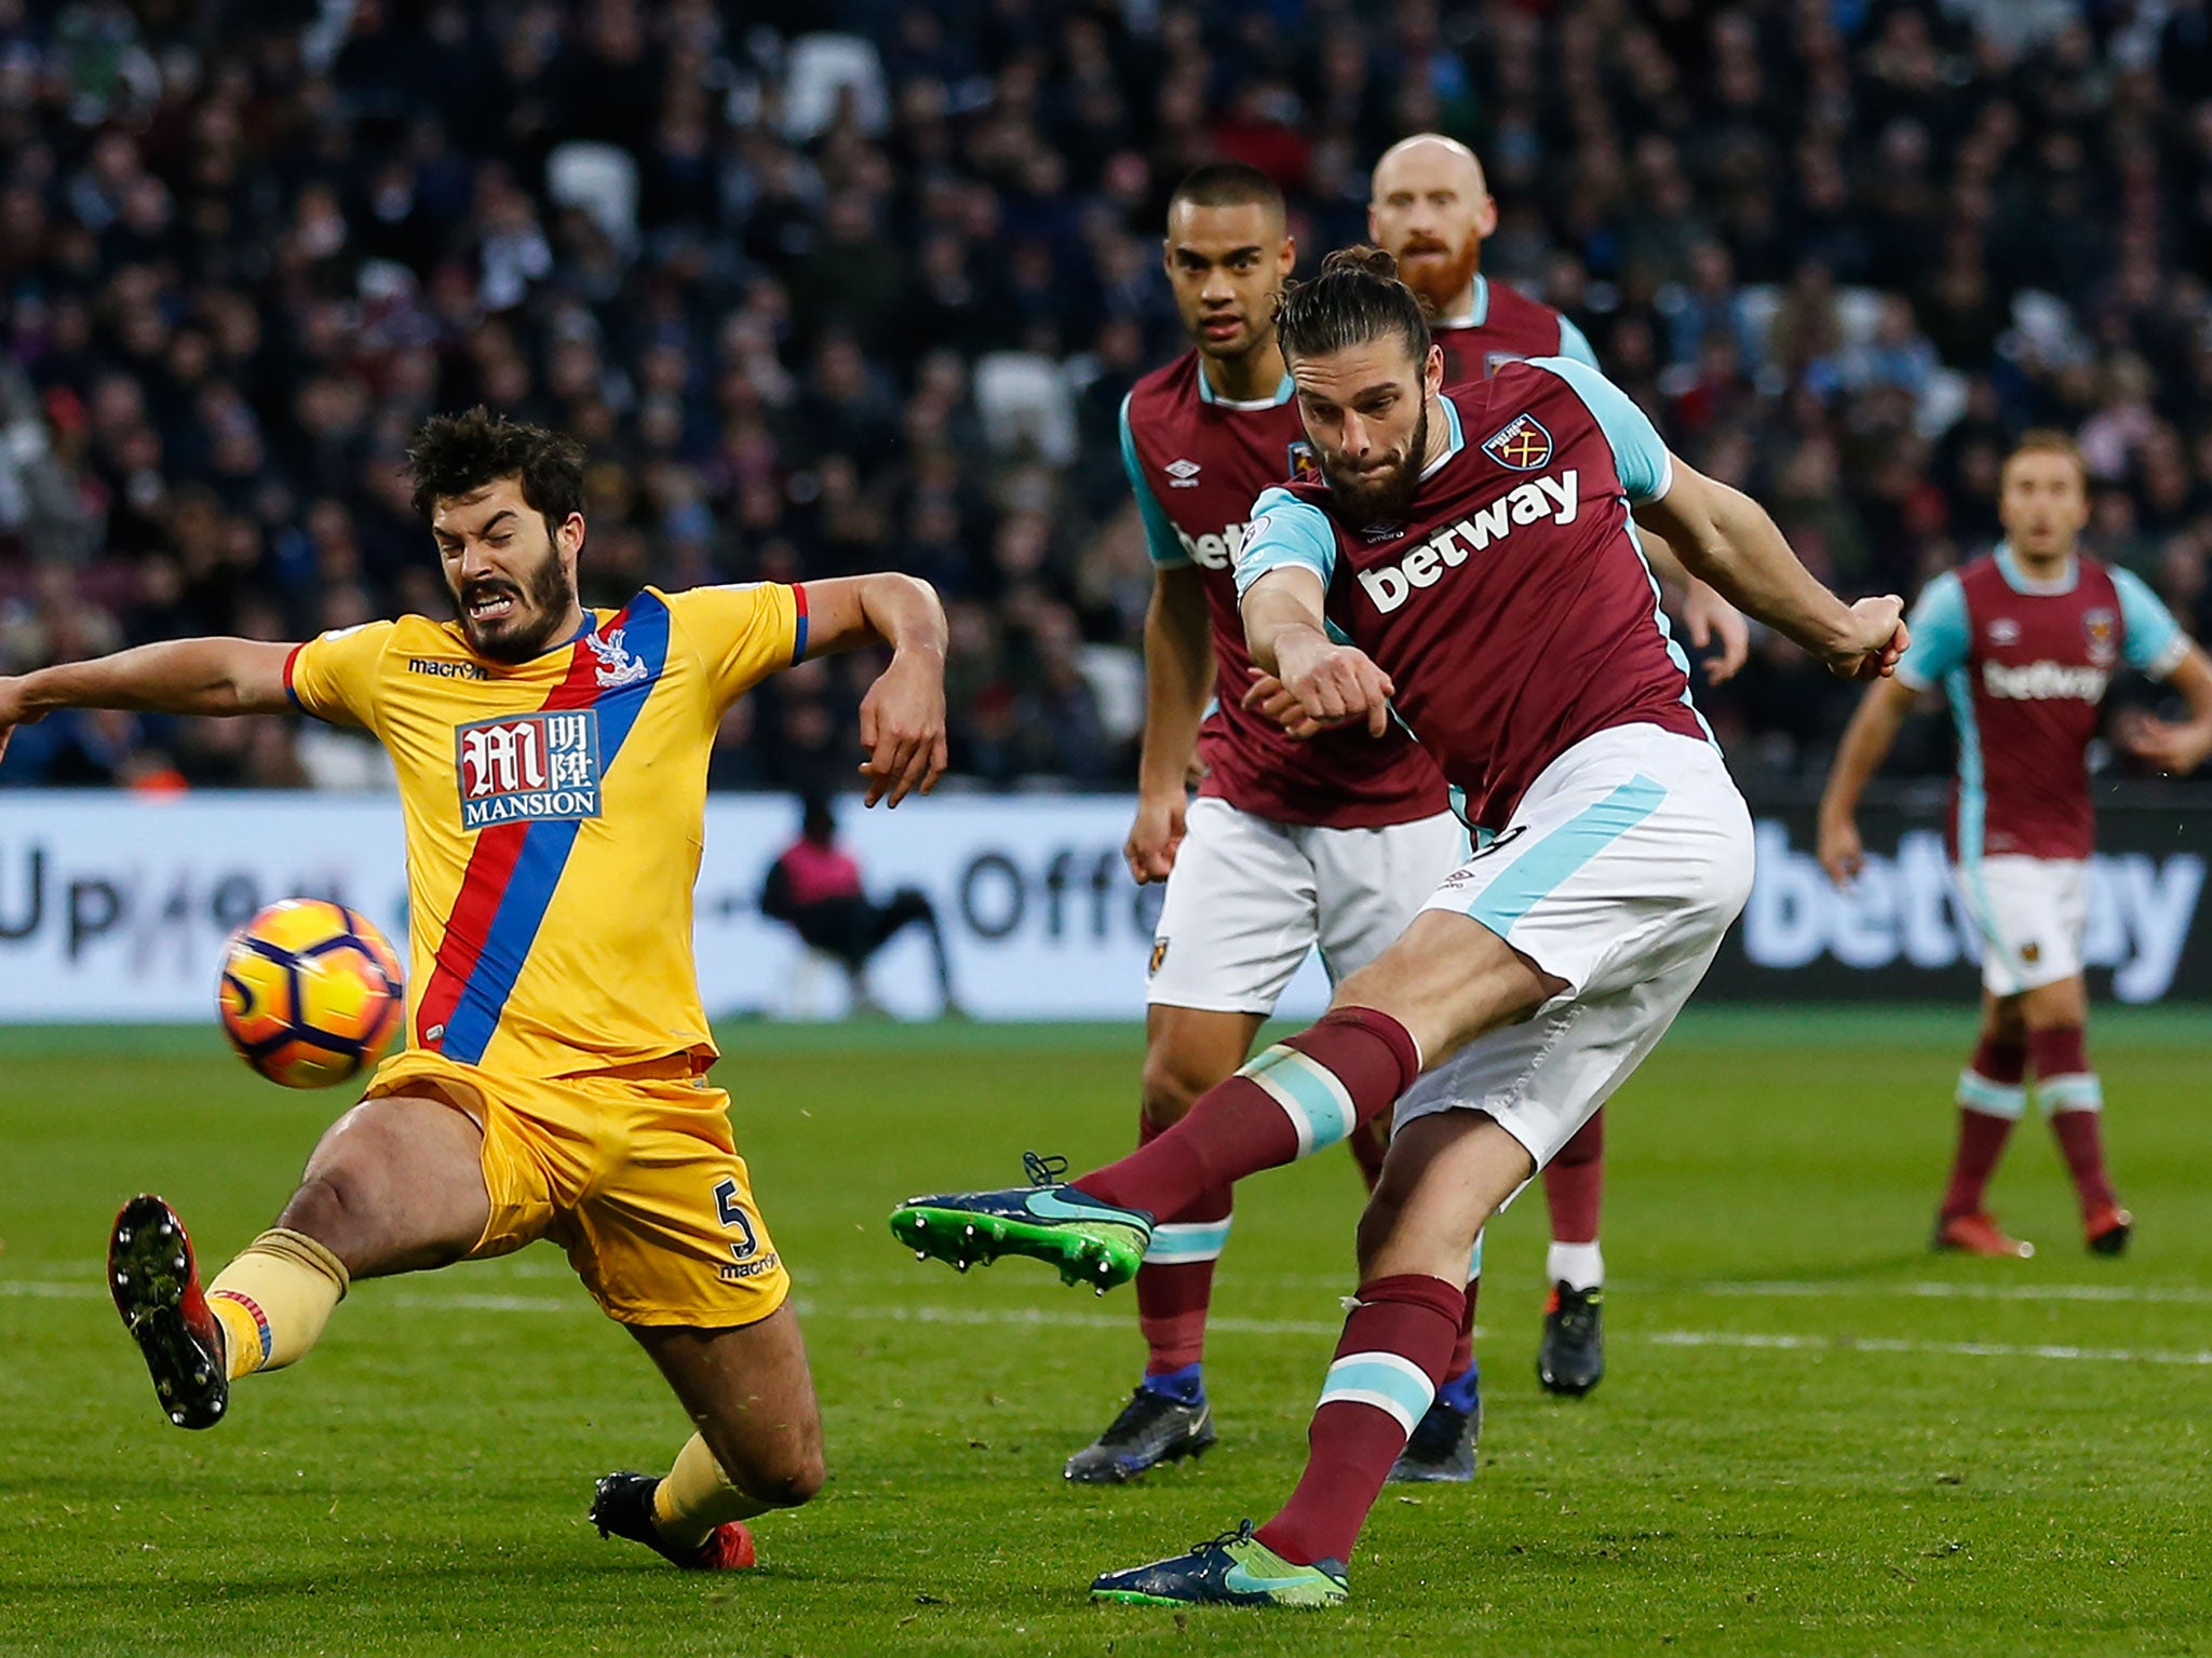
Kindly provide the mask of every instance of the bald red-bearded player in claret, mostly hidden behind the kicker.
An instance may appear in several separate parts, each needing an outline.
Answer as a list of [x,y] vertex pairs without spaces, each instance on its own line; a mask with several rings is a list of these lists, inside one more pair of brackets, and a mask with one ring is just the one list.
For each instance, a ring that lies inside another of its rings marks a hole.
[[[1458,139],[1416,133],[1376,161],[1367,192],[1367,234],[1398,261],[1398,281],[1413,290],[1429,314],[1429,338],[1444,356],[1444,385],[1489,380],[1506,363],[1564,356],[1599,367],[1590,343],[1551,305],[1482,274],[1482,241],[1498,228],[1482,161]],[[1743,617],[1703,581],[1690,577],[1666,542],[1641,537],[1644,557],[1663,581],[1683,590],[1690,643],[1719,646],[1708,676],[1721,683],[1750,654]],[[1606,1373],[1604,1284],[1606,1258],[1597,1245],[1597,1216],[1606,1176],[1606,1114],[1544,1165],[1544,1203],[1551,1209],[1551,1249],[1544,1282],[1544,1340],[1537,1379],[1551,1393],[1582,1395]],[[1467,1326],[1473,1331],[1482,1280],[1482,1247],[1467,1280]],[[1473,1366],[1471,1337],[1462,1337],[1460,1366]],[[1449,1393],[1449,1391],[1447,1391]]]

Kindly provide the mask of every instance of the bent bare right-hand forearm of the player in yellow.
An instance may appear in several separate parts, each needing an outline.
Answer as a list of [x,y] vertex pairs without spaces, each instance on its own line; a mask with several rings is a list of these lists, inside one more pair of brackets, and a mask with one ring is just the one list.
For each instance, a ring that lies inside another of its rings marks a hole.
[[807,581],[807,654],[889,646],[891,665],[860,699],[867,805],[896,807],[945,776],[945,606],[911,575],[845,575]]

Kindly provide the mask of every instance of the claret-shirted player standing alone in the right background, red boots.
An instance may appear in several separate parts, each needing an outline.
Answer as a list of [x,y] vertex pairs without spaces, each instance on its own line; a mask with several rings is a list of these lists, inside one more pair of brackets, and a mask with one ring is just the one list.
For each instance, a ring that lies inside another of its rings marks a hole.
[[2026,1074],[2051,1119],[2099,1256],[2128,1247],[2135,1218],[2104,1161],[2104,1085],[2088,1066],[2081,979],[2088,856],[2088,745],[2112,672],[2126,663],[2190,705],[2185,723],[2121,721],[2117,736],[2161,772],[2212,754],[2212,663],[2132,573],[2075,546],[2088,524],[2088,469],[2073,438],[2031,431],[2004,462],[2006,539],[1949,570],[1913,606],[1898,676],[1867,692],[1820,800],[1820,862],[1845,884],[1863,867],[1858,798],[1913,699],[1942,685],[1958,723],[1951,856],[1982,935],[1982,1032],[1958,1079],[1958,1156],[1936,1211],[1936,1247],[2026,1256],[1989,1214],[1989,1176],[2026,1112]]

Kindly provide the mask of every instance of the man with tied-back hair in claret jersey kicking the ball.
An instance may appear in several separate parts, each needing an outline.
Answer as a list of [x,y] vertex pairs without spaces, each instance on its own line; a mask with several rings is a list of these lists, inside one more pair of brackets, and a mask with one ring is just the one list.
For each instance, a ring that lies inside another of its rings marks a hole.
[[1298,1488],[1256,1530],[1108,1572],[1091,1585],[1108,1601],[1345,1598],[1367,1510],[1444,1379],[1475,1234],[1657,1046],[1750,893],[1750,814],[1690,703],[1630,508],[1836,672],[1889,672],[1907,643],[1898,599],[1845,606],[1588,367],[1546,358],[1447,393],[1391,270],[1338,252],[1283,296],[1321,480],[1267,491],[1237,559],[1252,659],[1274,676],[1252,701],[1296,732],[1396,714],[1467,791],[1482,844],[1316,1026],[1133,1156],[891,1216],[956,1265],[1024,1253],[1108,1287],[1155,1216],[1396,1105]]

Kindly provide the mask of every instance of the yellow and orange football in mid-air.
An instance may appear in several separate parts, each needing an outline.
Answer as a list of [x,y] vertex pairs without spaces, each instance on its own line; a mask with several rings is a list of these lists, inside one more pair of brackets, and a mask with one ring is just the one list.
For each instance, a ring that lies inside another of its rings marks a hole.
[[270,904],[230,935],[217,990],[239,1057],[285,1088],[332,1088],[392,1046],[407,997],[365,915],[321,898]]

